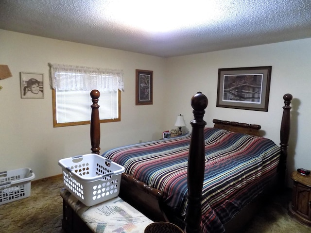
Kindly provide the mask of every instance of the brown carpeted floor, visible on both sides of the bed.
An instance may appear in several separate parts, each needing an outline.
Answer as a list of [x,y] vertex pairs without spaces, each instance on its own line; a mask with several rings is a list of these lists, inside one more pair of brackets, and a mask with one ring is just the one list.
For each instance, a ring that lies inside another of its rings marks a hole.
[[[31,196],[0,205],[0,233],[65,233],[62,231],[61,176],[31,183]],[[290,193],[263,207],[240,233],[310,233],[287,214]]]

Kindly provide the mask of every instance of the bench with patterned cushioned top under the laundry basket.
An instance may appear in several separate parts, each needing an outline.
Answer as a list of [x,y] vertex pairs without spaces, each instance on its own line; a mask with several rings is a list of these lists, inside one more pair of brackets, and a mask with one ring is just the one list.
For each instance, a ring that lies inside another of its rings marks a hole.
[[60,195],[64,203],[63,229],[68,233],[143,233],[153,223],[120,197],[89,207],[66,188]]

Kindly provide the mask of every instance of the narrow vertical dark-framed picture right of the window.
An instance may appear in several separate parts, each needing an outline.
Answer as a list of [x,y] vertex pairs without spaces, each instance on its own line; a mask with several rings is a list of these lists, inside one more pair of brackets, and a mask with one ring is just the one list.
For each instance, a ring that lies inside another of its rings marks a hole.
[[136,69],[136,105],[153,104],[153,71]]

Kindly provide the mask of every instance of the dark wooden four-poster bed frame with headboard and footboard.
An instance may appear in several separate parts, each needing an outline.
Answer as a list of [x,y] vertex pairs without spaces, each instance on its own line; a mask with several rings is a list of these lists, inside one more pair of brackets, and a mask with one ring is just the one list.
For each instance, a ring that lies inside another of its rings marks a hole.
[[[100,153],[100,121],[98,112],[98,99],[100,92],[97,90],[91,91],[91,98],[93,104],[90,138],[92,153]],[[290,110],[291,94],[283,96],[283,116],[280,127],[280,149],[281,155],[278,164],[277,183],[280,188],[284,187],[286,164],[287,164],[287,148],[290,133]],[[147,185],[146,183],[138,181],[126,173],[122,174],[120,197],[133,205],[138,211],[151,218],[154,221],[170,221],[178,225],[182,229],[186,229],[187,233],[200,233],[201,221],[201,195],[204,177],[204,127],[206,122],[203,120],[205,109],[207,107],[207,97],[201,92],[198,92],[191,99],[191,106],[193,108],[194,119],[190,122],[192,126],[192,133],[190,139],[190,151],[188,162],[188,199],[189,204],[186,210],[186,226],[181,221],[180,216],[172,214],[168,208],[163,204],[163,194],[159,190]],[[222,120],[213,120],[214,128],[226,129],[234,132],[247,133],[251,135],[260,136],[260,125],[251,125],[239,122],[230,122]],[[198,172],[199,171],[199,172]],[[258,198],[261,200],[261,197]],[[255,203],[255,205],[253,205]],[[241,213],[235,216],[229,223],[225,224],[225,232],[236,232],[237,226],[241,227],[245,224],[251,216],[256,214],[254,207],[260,206],[259,202],[255,201],[244,208]],[[64,203],[66,204],[66,203]],[[64,219],[65,219],[64,213]],[[79,217],[78,217],[79,218]],[[77,219],[79,222],[79,219]],[[65,226],[64,226],[65,225]],[[66,222],[63,221],[63,228],[66,228]],[[70,231],[69,231],[70,232]]]

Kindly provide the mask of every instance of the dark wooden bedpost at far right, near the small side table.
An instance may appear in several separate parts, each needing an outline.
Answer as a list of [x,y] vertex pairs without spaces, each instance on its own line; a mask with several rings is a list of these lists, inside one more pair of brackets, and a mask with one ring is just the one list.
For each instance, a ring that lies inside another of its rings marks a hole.
[[281,154],[280,161],[278,163],[278,172],[279,172],[279,184],[280,189],[282,190],[285,187],[285,177],[286,177],[286,167],[287,167],[287,148],[288,140],[290,135],[291,128],[291,101],[293,96],[291,94],[285,94],[283,96],[284,106],[283,106],[283,116],[281,121],[281,130],[280,130],[280,146]]

